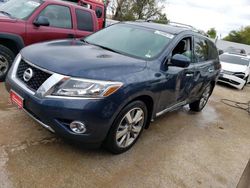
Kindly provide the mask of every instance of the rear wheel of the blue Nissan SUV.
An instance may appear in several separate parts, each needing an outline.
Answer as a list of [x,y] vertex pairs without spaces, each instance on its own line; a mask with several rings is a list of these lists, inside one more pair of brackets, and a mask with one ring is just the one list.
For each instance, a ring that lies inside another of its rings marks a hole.
[[212,94],[212,85],[210,84],[205,88],[199,100],[189,104],[190,110],[194,112],[202,111],[202,109],[206,106],[211,94]]

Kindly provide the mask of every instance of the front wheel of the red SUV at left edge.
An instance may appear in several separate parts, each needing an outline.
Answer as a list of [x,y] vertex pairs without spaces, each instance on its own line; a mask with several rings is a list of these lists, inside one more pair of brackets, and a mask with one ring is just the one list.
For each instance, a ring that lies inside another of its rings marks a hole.
[[0,82],[3,82],[8,74],[15,54],[7,47],[0,45]]

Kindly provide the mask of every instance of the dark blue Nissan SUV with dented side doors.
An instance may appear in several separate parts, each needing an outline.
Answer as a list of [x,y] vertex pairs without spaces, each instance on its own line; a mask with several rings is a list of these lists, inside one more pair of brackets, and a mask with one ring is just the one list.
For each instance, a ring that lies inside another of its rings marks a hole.
[[126,22],[84,40],[24,48],[6,88],[13,103],[49,130],[122,153],[156,117],[187,104],[201,111],[219,73],[208,38],[181,27]]

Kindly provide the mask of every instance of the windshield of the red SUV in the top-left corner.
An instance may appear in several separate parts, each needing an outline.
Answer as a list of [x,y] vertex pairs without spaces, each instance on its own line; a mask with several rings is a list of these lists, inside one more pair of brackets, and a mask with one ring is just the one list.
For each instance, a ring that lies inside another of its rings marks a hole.
[[0,12],[13,18],[25,20],[42,2],[42,0],[9,0],[0,6]]

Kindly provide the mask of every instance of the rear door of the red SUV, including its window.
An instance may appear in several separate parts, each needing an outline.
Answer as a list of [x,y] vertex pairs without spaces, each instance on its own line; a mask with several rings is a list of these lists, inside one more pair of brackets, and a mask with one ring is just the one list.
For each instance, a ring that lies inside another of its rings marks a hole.
[[92,14],[83,9],[76,9],[76,37],[86,37],[94,32],[94,20]]

